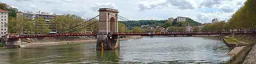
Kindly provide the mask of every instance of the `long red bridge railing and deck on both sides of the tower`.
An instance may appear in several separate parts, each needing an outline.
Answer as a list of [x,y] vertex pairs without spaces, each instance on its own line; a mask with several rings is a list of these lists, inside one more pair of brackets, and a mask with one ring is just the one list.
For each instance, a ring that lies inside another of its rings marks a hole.
[[[200,32],[112,32],[110,35],[256,35],[253,31],[200,31]],[[46,38],[46,37],[68,37],[68,36],[96,36],[96,33],[68,33],[53,35],[22,35],[12,36],[9,38]]]

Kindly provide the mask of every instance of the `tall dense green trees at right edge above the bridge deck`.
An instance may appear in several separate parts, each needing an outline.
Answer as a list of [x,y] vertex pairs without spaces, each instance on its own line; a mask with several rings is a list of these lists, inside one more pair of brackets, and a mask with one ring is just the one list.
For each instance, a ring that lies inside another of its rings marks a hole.
[[254,30],[256,28],[256,0],[247,0],[229,19],[230,29]]

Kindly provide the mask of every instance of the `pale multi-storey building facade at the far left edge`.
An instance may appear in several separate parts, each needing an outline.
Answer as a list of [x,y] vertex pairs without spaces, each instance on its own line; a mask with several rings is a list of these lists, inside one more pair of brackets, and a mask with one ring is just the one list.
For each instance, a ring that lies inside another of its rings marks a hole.
[[0,9],[0,34],[1,36],[7,35],[8,34],[8,13],[7,11],[4,11]]

